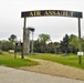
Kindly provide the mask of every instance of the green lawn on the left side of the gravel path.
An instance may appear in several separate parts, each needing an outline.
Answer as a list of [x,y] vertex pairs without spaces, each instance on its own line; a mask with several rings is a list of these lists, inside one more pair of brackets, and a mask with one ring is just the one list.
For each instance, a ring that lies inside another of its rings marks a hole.
[[38,65],[35,61],[29,59],[20,59],[19,56],[14,59],[14,54],[3,52],[0,54],[0,65],[10,66],[10,68],[20,68],[20,66],[32,66]]

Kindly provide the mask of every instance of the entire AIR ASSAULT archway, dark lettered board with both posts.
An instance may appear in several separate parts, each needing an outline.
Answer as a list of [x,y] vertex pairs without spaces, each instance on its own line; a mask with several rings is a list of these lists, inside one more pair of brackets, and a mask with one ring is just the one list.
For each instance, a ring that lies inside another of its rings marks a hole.
[[[82,44],[81,44],[81,19],[83,18],[82,12],[77,11],[65,11],[65,10],[36,10],[36,11],[24,11],[21,12],[21,18],[24,18],[24,25],[23,25],[23,54],[22,59],[24,59],[24,41],[25,41],[25,23],[27,18],[31,17],[70,17],[70,18],[77,18],[78,23],[78,50],[82,51]],[[82,63],[82,56],[78,58],[78,64]]]

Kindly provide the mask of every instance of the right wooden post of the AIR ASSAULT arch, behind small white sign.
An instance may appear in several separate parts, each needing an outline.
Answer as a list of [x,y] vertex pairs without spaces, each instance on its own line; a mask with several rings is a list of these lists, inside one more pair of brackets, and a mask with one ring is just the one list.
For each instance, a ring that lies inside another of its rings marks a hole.
[[[78,18],[78,51],[82,51],[82,44],[81,44],[81,19]],[[82,63],[82,55],[78,55],[78,64]]]

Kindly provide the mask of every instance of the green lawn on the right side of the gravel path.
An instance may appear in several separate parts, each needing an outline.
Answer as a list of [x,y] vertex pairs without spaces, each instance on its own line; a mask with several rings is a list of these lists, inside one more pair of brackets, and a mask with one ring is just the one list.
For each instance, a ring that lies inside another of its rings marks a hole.
[[42,59],[52,62],[57,62],[64,65],[71,65],[84,69],[84,56],[82,56],[82,64],[78,64],[78,55],[76,54],[60,55],[60,54],[41,53],[36,55],[29,55],[29,58]]

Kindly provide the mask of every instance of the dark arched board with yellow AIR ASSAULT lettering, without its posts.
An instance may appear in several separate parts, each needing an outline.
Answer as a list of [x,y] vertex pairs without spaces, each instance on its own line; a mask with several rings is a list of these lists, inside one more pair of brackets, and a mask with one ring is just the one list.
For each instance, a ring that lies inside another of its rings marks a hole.
[[57,15],[57,17],[72,17],[72,18],[83,18],[82,12],[75,11],[62,11],[62,10],[42,10],[42,11],[25,11],[21,12],[21,18],[27,17],[49,17],[49,15]]

